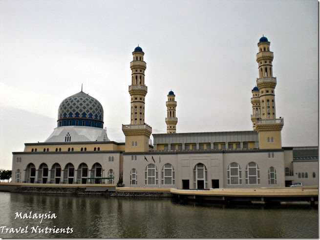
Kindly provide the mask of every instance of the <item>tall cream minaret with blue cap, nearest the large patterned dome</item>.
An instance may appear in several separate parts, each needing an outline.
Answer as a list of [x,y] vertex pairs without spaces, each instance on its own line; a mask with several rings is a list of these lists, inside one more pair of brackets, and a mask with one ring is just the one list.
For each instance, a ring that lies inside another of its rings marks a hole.
[[130,124],[122,125],[122,131],[126,136],[126,152],[149,151],[149,137],[152,128],[145,123],[145,97],[148,87],[145,85],[146,62],[143,60],[145,53],[137,46],[132,52],[133,60],[130,62],[131,85],[129,94],[131,97]]

